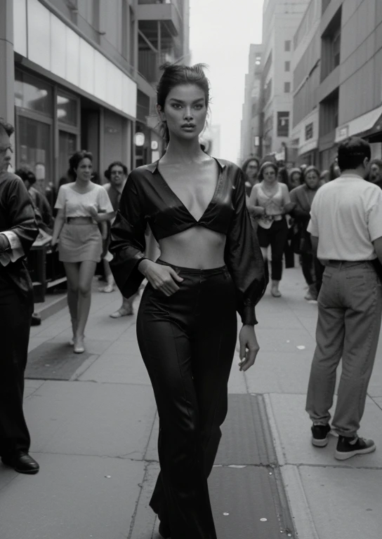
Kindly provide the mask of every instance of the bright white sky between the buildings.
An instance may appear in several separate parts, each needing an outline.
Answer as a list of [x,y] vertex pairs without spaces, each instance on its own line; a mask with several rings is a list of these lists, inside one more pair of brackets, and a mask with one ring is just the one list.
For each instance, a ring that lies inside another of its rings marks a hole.
[[261,43],[263,0],[190,0],[191,62],[209,65],[211,124],[220,124],[220,156],[237,161],[249,45]]

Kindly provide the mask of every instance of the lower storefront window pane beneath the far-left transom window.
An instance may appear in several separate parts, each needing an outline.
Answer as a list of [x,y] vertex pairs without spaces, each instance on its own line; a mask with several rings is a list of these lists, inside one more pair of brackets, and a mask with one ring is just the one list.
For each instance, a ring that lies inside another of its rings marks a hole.
[[35,187],[44,193],[52,180],[51,126],[20,116],[17,138],[17,166],[27,166],[36,175]]

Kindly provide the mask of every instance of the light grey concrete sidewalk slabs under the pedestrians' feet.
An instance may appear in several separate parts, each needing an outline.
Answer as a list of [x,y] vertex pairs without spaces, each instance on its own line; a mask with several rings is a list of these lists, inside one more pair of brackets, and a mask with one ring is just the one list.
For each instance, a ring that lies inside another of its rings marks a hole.
[[[324,449],[310,444],[304,411],[317,305],[303,300],[299,268],[284,272],[281,290],[282,298],[267,292],[258,307],[261,352],[256,365],[240,373],[235,357],[230,406],[240,395],[263,396],[275,444],[274,465],[281,470],[298,538],[377,539],[382,535],[382,342],[360,432],[374,438],[377,451],[341,463],[333,455],[336,439]],[[136,342],[136,317],[108,316],[119,305],[118,292],[95,291],[86,328],[89,354],[84,361],[78,357],[70,379],[27,380],[25,413],[31,451],[41,471],[27,477],[0,467],[1,539],[159,538],[147,507],[159,470],[156,407]],[[64,348],[70,336],[69,315],[63,310],[32,328],[29,348],[52,342]],[[235,462],[244,445],[245,429],[237,430],[228,473],[245,472],[240,470],[242,462]],[[223,465],[223,455],[217,461]],[[249,472],[242,480],[249,480]],[[217,484],[214,476],[211,481]],[[242,512],[257,509],[267,517],[270,509],[261,507],[261,486],[249,484],[249,489]],[[212,503],[219,509],[219,539],[233,537],[225,525],[233,513],[229,507],[220,512],[220,505],[232,505],[232,500]],[[247,531],[245,537],[288,535],[286,529],[267,533],[267,525],[256,513],[253,535]],[[240,528],[235,537],[243,539]]]

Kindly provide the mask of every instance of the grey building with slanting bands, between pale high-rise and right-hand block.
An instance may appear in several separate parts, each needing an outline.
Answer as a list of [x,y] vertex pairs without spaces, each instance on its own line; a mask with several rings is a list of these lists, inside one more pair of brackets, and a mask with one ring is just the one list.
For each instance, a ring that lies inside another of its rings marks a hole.
[[310,0],[293,40],[289,161],[296,164],[318,164],[321,13],[322,0]]

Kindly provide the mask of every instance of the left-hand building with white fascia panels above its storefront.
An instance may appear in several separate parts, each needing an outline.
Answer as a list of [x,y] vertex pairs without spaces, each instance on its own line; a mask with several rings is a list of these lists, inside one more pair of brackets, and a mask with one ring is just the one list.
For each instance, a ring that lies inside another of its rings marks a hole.
[[76,149],[102,173],[158,157],[159,65],[188,52],[188,0],[1,0],[0,115],[41,189]]

